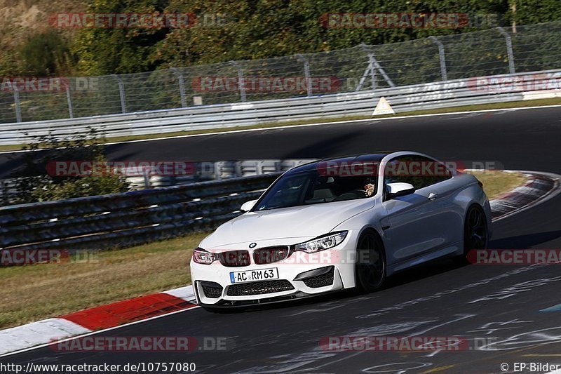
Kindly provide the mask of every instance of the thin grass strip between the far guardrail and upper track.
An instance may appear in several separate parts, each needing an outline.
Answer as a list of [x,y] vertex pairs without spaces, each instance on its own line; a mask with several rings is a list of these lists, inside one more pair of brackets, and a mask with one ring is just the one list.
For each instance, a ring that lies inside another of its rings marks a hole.
[[[451,112],[466,112],[470,110],[485,110],[485,109],[508,109],[508,108],[521,108],[521,107],[539,107],[546,105],[561,105],[561,98],[552,99],[540,99],[540,100],[524,100],[524,101],[513,101],[513,102],[496,102],[491,104],[482,105],[464,105],[461,107],[447,107],[440,109],[426,109],[426,110],[414,110],[410,112],[400,112],[398,114],[384,114],[381,116],[341,116],[337,118],[330,119],[308,119],[299,121],[282,121],[273,123],[262,123],[259,125],[252,126],[234,126],[228,128],[215,128],[207,130],[192,130],[192,131],[175,131],[173,133],[155,133],[147,135],[128,135],[119,136],[114,138],[107,138],[105,142],[128,142],[131,140],[142,140],[142,139],[156,139],[163,137],[177,137],[184,135],[196,135],[196,134],[208,134],[208,133],[224,133],[226,131],[236,131],[236,130],[250,130],[255,128],[270,128],[278,126],[298,126],[311,123],[323,123],[323,122],[338,122],[338,121],[351,121],[354,119],[379,119],[388,118],[396,116],[412,116],[421,114],[438,114],[438,113],[451,113]],[[374,110],[374,109],[372,109]],[[17,151],[22,148],[22,145],[1,145],[0,152]]]

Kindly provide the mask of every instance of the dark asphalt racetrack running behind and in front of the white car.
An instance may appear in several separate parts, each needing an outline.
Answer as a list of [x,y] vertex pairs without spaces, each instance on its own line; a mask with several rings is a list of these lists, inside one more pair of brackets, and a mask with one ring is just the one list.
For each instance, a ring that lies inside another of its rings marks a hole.
[[[506,169],[561,174],[560,139],[561,108],[555,107],[131,142],[111,145],[108,152],[110,159],[121,160],[212,161],[404,149],[443,160],[497,161]],[[561,248],[560,216],[558,195],[495,222],[489,248]],[[440,260],[396,274],[386,289],[370,295],[348,292],[231,314],[194,308],[97,334],[224,337],[225,351],[55,352],[43,347],[0,362],[194,362],[199,373],[512,373],[520,368],[517,363],[561,364],[561,307],[541,311],[561,304],[560,287],[560,265],[458,267]],[[432,352],[320,347],[325,337],[342,335],[455,336],[469,344],[459,351]]]

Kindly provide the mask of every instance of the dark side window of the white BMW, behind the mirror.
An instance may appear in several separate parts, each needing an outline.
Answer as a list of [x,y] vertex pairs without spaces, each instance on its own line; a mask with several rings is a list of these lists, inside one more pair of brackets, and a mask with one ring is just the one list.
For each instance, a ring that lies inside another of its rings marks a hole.
[[450,179],[452,174],[444,166],[424,156],[400,156],[389,161],[384,168],[384,182],[410,183],[421,189]]

